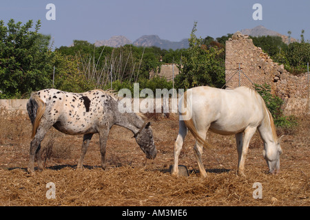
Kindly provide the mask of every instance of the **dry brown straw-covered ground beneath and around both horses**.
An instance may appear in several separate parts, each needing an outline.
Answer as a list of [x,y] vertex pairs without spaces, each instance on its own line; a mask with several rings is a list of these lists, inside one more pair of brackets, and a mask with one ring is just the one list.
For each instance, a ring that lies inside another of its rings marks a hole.
[[[172,177],[178,120],[149,118],[156,159],[145,158],[131,131],[113,126],[107,141],[107,169],[100,168],[99,136],[94,135],[83,170],[76,170],[82,135],[70,136],[51,129],[42,143],[45,170],[27,171],[31,124],[27,115],[0,114],[0,206],[309,206],[309,116],[299,126],[278,131],[282,138],[280,173],[267,173],[258,133],[250,142],[246,177],[237,175],[234,135],[208,133],[214,146],[205,149],[207,177],[201,178],[194,157],[194,137],[187,135],[179,164],[189,177]],[[37,165],[36,165],[37,166]],[[48,199],[54,183],[55,198]],[[261,184],[256,188],[255,183]],[[260,189],[262,198],[254,199]]]

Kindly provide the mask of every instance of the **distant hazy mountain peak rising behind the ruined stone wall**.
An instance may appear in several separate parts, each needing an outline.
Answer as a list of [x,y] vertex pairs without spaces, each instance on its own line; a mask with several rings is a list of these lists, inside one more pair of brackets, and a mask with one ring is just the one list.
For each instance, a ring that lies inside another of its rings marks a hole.
[[[284,43],[289,43],[289,36],[284,35],[284,34],[280,34],[280,33],[275,32],[273,30],[269,30],[262,25],[259,25],[255,28],[252,28],[252,29],[243,29],[243,30],[240,30],[240,32],[242,34],[247,34],[250,36],[267,36],[267,35],[269,35],[269,36],[280,36]],[[293,39],[291,37],[291,42],[294,42],[294,41],[298,41],[298,40]]]

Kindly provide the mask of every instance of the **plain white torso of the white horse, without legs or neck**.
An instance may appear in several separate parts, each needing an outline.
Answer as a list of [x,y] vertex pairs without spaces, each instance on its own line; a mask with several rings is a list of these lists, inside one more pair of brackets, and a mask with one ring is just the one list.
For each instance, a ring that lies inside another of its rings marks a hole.
[[194,87],[191,90],[192,118],[196,126],[210,126],[215,133],[229,135],[247,126],[258,126],[263,118],[262,99],[247,87]]

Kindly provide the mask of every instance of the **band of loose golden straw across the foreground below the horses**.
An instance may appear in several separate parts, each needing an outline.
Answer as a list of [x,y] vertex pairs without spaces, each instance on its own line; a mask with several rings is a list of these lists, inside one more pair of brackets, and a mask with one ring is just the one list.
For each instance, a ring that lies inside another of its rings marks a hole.
[[[236,171],[208,173],[201,179],[172,177],[147,167],[65,167],[30,175],[22,169],[0,170],[1,206],[309,206],[309,179],[296,170],[269,175],[262,170],[238,177]],[[56,199],[47,199],[46,184],[55,184]],[[254,182],[262,199],[254,199]]]

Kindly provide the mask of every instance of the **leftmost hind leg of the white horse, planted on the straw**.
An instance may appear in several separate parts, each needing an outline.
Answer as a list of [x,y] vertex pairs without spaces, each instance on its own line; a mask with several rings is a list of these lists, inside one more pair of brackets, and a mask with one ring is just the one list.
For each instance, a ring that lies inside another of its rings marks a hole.
[[187,134],[187,127],[183,120],[178,122],[178,137],[176,137],[176,142],[174,143],[174,166],[172,168],[172,175],[178,177],[178,156],[183,146]]

